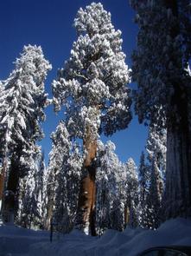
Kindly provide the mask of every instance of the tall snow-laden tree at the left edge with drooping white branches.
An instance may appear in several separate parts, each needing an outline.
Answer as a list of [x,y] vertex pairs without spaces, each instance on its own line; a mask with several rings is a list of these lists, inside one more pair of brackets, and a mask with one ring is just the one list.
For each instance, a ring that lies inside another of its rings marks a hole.
[[44,80],[50,69],[51,65],[45,60],[41,47],[25,46],[21,57],[16,59],[16,69],[3,82],[0,95],[0,157],[3,161],[10,160],[9,172],[7,168],[3,171],[7,175],[3,211],[15,210],[18,181],[25,175],[22,171],[22,164],[26,166],[25,155],[28,157],[33,154],[31,151],[38,150],[35,141],[43,135],[40,121],[45,118],[43,108],[48,104]]

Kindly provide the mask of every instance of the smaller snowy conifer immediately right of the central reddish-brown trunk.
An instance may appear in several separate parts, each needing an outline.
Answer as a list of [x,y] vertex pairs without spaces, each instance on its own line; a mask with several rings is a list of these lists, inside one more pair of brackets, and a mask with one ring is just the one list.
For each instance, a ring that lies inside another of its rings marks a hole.
[[96,179],[96,226],[101,234],[105,229],[124,229],[124,200],[126,170],[114,153],[115,145],[99,141]]

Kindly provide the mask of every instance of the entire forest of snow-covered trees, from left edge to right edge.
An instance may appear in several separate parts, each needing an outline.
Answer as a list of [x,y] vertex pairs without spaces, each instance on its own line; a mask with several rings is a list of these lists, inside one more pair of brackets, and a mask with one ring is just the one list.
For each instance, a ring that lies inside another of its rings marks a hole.
[[[131,0],[131,7],[139,28],[131,69],[111,14],[92,3],[74,19],[77,38],[52,82],[53,99],[44,87],[52,66],[35,45],[24,46],[0,82],[3,221],[41,229],[54,222],[62,233],[101,235],[191,216],[189,1]],[[37,142],[49,104],[64,114],[46,167]],[[138,164],[119,161],[115,144],[100,140],[128,128],[133,108],[148,126]]]

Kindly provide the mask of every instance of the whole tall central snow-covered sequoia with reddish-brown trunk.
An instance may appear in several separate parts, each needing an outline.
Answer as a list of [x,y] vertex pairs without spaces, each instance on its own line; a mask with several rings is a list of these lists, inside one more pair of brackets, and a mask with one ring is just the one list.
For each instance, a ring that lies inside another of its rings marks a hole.
[[97,139],[101,132],[111,135],[131,121],[126,87],[129,70],[121,51],[121,32],[114,30],[111,14],[101,3],[80,9],[74,19],[78,39],[71,57],[53,82],[55,109],[67,108],[69,133],[83,140],[84,167],[80,185],[77,226],[95,234],[95,167]]

